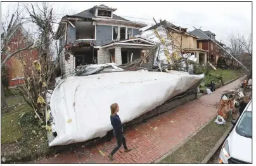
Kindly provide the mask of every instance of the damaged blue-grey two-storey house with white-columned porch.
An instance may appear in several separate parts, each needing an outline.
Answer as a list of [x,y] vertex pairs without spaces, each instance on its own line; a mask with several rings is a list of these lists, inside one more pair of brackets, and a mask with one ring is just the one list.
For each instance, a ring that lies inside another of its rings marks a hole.
[[116,10],[102,4],[61,19],[57,39],[62,75],[86,64],[125,64],[155,45],[134,37],[147,25],[113,14]]

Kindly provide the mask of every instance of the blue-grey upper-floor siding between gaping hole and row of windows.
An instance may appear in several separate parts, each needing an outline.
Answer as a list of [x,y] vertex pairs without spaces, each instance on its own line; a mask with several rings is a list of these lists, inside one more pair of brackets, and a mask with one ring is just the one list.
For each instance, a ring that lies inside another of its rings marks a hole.
[[101,46],[112,42],[112,26],[96,25],[96,42],[95,45]]

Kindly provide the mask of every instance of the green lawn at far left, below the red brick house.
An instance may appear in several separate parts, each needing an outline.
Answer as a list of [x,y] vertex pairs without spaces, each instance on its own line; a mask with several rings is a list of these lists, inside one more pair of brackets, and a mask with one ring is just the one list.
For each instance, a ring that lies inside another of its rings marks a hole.
[[[8,105],[15,105],[23,102],[22,97],[9,97],[7,98]],[[1,144],[13,143],[22,137],[22,130],[20,127],[20,117],[25,112],[32,111],[29,105],[18,105],[16,107],[10,107],[11,112],[3,114],[1,116]]]

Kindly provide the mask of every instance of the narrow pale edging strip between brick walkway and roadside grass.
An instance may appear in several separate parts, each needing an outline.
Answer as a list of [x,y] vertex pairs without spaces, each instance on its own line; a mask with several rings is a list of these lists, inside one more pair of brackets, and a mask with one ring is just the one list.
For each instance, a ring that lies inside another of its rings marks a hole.
[[167,153],[162,155],[162,157],[158,158],[157,160],[155,160],[154,162],[151,162],[151,163],[159,163],[159,162],[161,162],[161,160],[163,160],[163,158],[168,157],[174,151],[178,150],[182,145],[184,145],[184,143],[189,141],[193,136],[195,136],[195,134],[197,134],[199,131],[201,131],[205,126],[207,126],[214,119],[215,119],[215,116],[212,119],[210,119],[210,121],[208,121],[205,124],[203,124],[203,126],[201,126],[199,129],[197,129],[193,134],[190,134],[188,137],[186,137],[183,141],[181,141],[181,143],[179,143],[178,145],[174,146],[174,148],[172,148],[172,150],[168,151]]

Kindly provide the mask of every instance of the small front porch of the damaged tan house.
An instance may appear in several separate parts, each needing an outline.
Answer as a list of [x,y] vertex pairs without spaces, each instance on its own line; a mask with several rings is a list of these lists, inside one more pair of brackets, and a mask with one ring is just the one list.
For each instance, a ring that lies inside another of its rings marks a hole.
[[207,65],[208,50],[203,49],[184,49],[184,53],[194,53],[196,56],[196,62],[199,64]]

